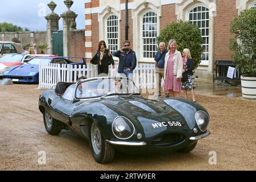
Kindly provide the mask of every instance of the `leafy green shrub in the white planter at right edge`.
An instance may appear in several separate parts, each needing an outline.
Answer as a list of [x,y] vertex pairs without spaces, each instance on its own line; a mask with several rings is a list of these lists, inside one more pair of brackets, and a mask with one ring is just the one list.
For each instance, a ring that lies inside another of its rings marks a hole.
[[256,8],[244,10],[230,26],[235,35],[230,38],[229,48],[234,51],[232,59],[242,74],[256,77]]

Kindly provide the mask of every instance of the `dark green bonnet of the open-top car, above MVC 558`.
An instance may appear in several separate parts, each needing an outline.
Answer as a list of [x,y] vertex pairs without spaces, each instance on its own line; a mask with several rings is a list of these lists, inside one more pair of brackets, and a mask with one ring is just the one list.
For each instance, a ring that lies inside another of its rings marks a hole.
[[179,100],[147,100],[143,97],[116,97],[101,101],[109,109],[131,121],[145,123],[180,122],[193,129],[197,108]]

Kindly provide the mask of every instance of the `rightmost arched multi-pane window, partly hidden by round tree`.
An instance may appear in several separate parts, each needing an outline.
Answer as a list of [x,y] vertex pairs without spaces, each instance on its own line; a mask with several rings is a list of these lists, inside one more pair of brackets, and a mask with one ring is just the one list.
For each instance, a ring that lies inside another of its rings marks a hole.
[[209,61],[209,9],[204,6],[197,6],[189,11],[189,22],[200,28],[203,37],[203,53],[201,56],[202,63]]

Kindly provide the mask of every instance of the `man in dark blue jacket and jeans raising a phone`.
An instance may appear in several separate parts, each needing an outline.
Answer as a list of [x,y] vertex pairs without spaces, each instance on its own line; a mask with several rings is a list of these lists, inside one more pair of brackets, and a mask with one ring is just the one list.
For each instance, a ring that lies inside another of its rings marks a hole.
[[119,57],[118,73],[125,73],[127,77],[129,74],[133,74],[133,70],[137,66],[137,58],[135,52],[130,48],[129,40],[125,40],[123,48],[114,52],[113,56]]

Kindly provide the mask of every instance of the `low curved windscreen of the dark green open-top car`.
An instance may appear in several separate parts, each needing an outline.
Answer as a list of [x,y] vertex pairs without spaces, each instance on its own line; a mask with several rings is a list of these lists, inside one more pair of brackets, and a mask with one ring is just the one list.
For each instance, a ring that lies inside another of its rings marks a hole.
[[76,98],[93,98],[111,95],[139,93],[133,81],[127,78],[98,78],[82,82],[77,86]]

